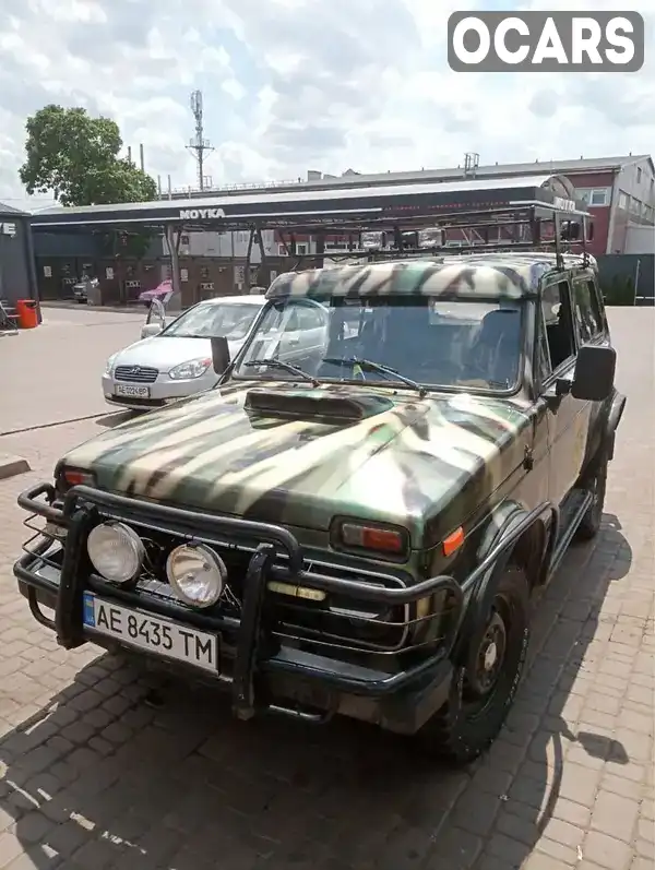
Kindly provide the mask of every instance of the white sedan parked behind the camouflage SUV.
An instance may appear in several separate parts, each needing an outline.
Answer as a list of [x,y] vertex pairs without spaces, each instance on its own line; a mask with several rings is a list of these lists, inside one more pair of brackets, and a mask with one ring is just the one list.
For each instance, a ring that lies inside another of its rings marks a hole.
[[[106,402],[145,410],[210,390],[218,380],[212,365],[211,338],[224,335],[234,358],[264,302],[264,296],[207,299],[158,334],[114,354],[103,374]],[[145,331],[153,333],[157,327],[150,324]]]

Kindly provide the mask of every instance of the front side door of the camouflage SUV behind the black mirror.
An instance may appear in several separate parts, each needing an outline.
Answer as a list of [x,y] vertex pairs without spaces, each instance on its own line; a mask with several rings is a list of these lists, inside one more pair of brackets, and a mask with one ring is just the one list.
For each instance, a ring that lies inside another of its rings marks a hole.
[[592,403],[573,398],[577,341],[568,276],[558,276],[543,288],[538,331],[540,392],[548,422],[550,501],[560,505],[582,470]]

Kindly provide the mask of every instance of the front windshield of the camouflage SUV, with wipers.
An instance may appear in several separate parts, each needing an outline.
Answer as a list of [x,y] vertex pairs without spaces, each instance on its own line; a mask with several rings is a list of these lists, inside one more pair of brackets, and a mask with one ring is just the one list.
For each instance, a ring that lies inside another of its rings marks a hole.
[[[258,360],[277,359],[321,381],[509,390],[519,380],[521,305],[383,296],[269,303],[237,377],[298,380]],[[398,378],[396,383],[401,383]]]

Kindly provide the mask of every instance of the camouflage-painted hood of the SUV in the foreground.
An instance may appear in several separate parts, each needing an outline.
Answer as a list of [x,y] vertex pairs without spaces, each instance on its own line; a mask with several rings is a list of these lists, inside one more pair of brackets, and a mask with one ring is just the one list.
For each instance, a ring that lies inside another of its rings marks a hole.
[[317,532],[344,514],[402,524],[421,548],[521,465],[527,422],[519,405],[467,395],[233,382],[104,432],[64,463],[103,489],[210,513]]

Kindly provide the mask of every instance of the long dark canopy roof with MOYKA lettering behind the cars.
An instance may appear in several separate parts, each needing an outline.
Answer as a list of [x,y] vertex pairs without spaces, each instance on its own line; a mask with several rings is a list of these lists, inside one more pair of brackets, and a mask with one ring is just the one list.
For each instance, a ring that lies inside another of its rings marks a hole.
[[455,182],[393,184],[350,190],[293,191],[160,200],[86,207],[55,207],[33,215],[40,231],[74,229],[283,229],[348,233],[434,225],[466,213],[547,208],[586,214],[563,176],[462,179]]

